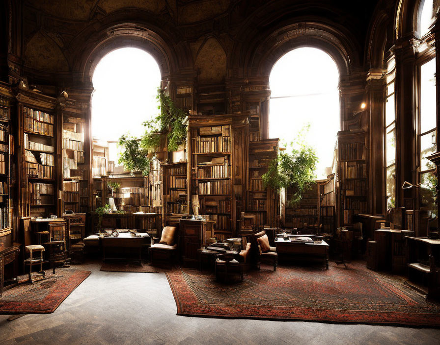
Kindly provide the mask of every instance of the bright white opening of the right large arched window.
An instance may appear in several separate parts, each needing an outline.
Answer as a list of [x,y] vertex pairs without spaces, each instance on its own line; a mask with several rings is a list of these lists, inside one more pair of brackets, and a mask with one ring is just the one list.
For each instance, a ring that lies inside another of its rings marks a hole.
[[275,63],[269,83],[269,136],[289,143],[310,123],[306,140],[317,151],[317,177],[327,177],[326,167],[332,164],[340,129],[339,72],[335,62],[320,49],[294,49]]

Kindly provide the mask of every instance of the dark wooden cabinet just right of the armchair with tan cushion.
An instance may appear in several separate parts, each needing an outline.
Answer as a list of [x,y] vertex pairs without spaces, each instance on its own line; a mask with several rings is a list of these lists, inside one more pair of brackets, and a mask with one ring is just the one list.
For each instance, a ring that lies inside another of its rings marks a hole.
[[197,249],[204,246],[212,235],[212,228],[205,221],[180,220],[179,257],[184,266],[196,267]]

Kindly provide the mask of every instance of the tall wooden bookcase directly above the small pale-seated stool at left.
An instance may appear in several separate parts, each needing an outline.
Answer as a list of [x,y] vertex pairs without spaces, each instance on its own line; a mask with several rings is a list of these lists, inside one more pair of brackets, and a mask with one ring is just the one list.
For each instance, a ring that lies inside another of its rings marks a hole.
[[[29,95],[27,95],[29,96]],[[19,112],[23,121],[22,194],[23,216],[48,217],[57,214],[57,184],[55,169],[56,123],[54,112],[55,99],[43,95],[32,95],[35,103],[19,103]],[[48,99],[47,102],[42,99]],[[19,98],[20,100],[20,98]],[[46,107],[43,108],[43,106]],[[52,109],[53,110],[53,109]]]

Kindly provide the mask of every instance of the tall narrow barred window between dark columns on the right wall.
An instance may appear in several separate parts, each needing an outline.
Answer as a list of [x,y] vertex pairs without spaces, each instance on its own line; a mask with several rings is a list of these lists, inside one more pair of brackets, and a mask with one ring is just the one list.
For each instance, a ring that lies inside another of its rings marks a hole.
[[385,193],[386,208],[396,205],[396,62],[394,57],[388,61],[385,93]]

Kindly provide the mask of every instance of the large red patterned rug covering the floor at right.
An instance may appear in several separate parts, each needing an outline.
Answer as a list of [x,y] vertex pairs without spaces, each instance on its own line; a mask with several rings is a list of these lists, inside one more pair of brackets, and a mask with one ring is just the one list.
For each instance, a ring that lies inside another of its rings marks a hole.
[[190,269],[166,275],[177,315],[440,326],[440,304],[404,285],[403,277],[370,271],[365,263],[329,270],[262,267],[230,284]]

